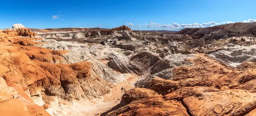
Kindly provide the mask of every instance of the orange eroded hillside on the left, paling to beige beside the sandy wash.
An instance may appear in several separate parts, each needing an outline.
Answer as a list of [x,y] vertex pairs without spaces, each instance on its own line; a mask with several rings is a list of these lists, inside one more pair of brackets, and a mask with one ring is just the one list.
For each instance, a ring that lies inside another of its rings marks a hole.
[[[70,62],[63,56],[70,51],[35,46],[43,44],[35,41],[41,40],[6,36],[0,41],[0,76],[4,78],[0,78],[0,104],[16,107],[19,115],[50,116],[44,108],[51,108],[54,96],[64,100],[102,98],[125,79],[124,75],[96,60],[93,53],[89,56],[91,60],[54,64]],[[17,116],[13,108],[0,110],[3,116]]]

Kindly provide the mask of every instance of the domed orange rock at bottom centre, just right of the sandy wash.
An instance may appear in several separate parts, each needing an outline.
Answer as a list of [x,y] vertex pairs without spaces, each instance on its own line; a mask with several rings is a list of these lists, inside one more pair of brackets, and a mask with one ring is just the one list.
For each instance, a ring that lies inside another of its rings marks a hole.
[[165,100],[153,90],[143,88],[128,90],[112,110],[105,116],[189,116],[181,102]]

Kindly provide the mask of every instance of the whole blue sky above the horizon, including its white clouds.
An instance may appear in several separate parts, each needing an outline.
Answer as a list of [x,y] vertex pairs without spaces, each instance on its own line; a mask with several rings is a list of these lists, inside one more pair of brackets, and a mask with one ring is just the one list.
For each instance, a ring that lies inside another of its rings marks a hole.
[[[0,29],[127,25],[134,30],[179,30],[255,22],[256,0],[2,0]],[[231,21],[231,22],[225,22]],[[182,25],[183,24],[183,25]]]

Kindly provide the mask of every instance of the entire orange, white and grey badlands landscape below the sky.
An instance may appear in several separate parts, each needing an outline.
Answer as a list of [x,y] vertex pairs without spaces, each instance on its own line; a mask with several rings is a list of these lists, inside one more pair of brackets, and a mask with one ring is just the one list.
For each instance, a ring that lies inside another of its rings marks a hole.
[[256,23],[0,30],[0,116],[255,116]]

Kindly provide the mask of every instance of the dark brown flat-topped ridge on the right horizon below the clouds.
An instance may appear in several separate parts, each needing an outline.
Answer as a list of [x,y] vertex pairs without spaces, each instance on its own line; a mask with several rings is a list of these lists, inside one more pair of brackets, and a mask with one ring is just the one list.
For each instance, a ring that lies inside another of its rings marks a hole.
[[176,34],[186,34],[192,38],[221,39],[234,36],[256,37],[256,23],[230,23],[207,28],[185,28]]

